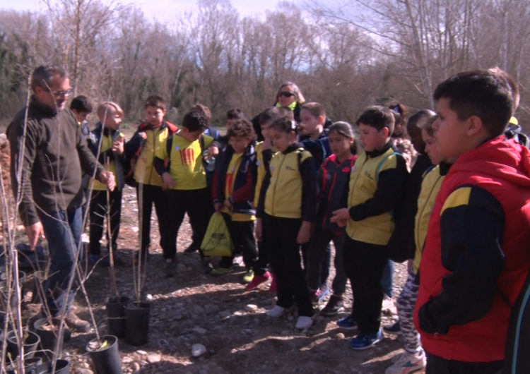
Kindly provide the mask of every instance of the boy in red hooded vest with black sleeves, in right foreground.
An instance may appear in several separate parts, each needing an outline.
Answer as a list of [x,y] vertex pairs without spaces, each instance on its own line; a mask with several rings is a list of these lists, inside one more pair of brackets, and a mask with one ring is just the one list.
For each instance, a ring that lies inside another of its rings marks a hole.
[[508,321],[530,269],[530,153],[508,140],[517,85],[504,72],[438,85],[433,127],[456,160],[429,222],[415,324],[427,373],[500,373]]

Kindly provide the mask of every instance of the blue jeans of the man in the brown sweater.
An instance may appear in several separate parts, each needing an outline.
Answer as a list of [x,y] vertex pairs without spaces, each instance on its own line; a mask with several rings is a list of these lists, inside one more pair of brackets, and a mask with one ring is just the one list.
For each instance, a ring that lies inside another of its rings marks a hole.
[[[53,316],[71,307],[74,293],[66,294],[70,277],[76,268],[76,254],[81,238],[81,207],[59,212],[39,212],[49,247],[49,277],[46,279],[46,301]],[[79,256],[81,258],[81,255]],[[72,287],[73,288],[73,287]]]

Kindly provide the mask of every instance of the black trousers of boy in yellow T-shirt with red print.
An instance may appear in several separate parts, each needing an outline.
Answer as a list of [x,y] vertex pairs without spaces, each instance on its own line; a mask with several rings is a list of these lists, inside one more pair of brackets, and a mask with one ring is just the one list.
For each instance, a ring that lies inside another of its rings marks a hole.
[[164,235],[162,239],[165,259],[174,259],[177,255],[177,234],[186,213],[189,217],[189,224],[201,243],[213,213],[211,198],[206,188],[167,192],[167,224],[165,225],[167,235]]

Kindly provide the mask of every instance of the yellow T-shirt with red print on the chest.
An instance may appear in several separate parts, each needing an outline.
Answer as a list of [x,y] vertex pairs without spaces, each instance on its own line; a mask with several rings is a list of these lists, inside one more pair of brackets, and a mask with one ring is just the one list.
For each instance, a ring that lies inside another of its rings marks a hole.
[[[208,135],[204,137],[204,150],[210,147],[213,138]],[[166,159],[167,146],[164,142],[155,150],[159,159]],[[175,180],[175,190],[199,190],[206,188],[206,172],[202,162],[202,150],[199,140],[189,142],[175,133],[172,135],[170,150],[170,174]]]

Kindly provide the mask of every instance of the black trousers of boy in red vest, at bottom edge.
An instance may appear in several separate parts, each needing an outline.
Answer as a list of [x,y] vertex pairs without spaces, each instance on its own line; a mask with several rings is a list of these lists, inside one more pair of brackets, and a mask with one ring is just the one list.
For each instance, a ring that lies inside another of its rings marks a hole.
[[500,374],[504,361],[464,362],[427,354],[427,374]]

